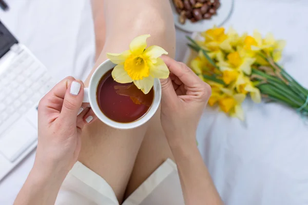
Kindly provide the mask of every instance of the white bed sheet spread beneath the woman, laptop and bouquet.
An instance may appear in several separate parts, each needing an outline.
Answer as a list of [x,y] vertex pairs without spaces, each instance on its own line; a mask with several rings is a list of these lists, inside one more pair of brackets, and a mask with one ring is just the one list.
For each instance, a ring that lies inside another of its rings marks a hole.
[[[55,79],[84,79],[93,65],[94,37],[88,0],[7,0],[0,18],[49,68]],[[235,0],[226,27],[273,32],[287,40],[282,64],[308,87],[308,1]],[[177,31],[177,59],[185,35]],[[293,110],[246,100],[245,122],[207,109],[199,148],[224,202],[232,205],[308,204],[308,125]],[[34,152],[0,182],[0,204],[12,204],[30,171]]]

